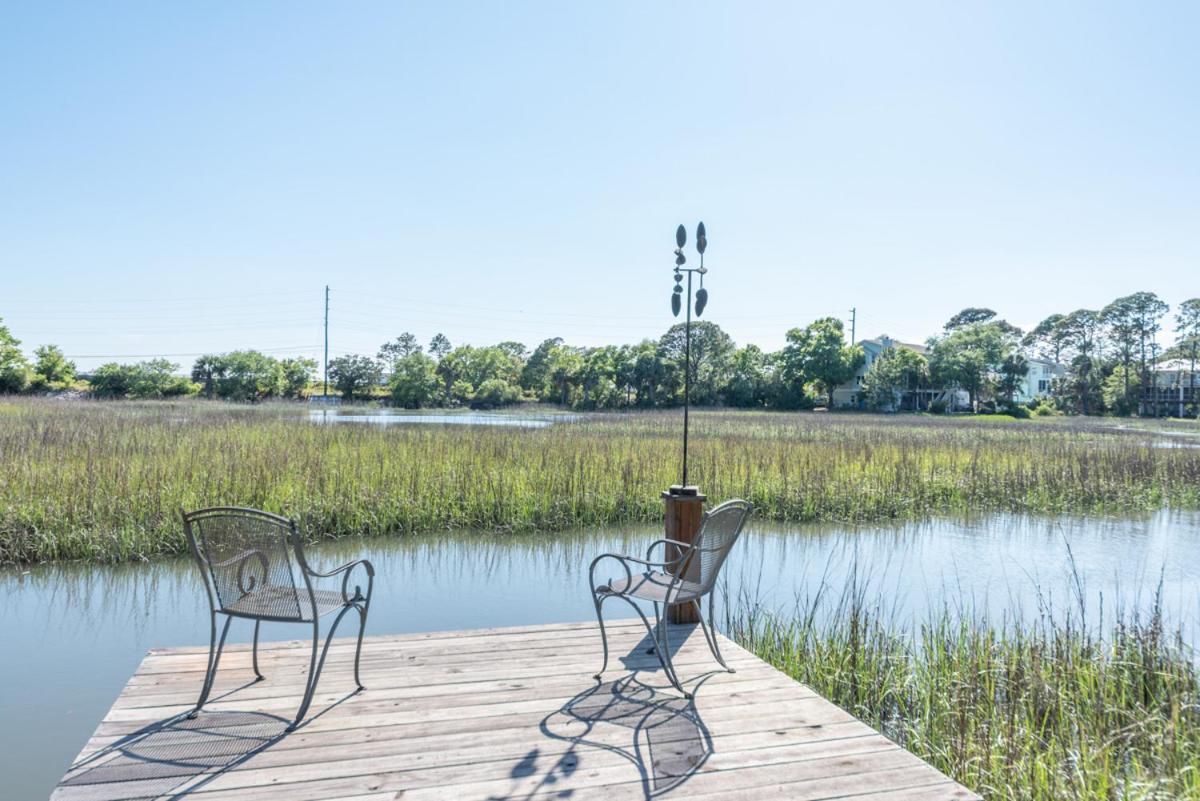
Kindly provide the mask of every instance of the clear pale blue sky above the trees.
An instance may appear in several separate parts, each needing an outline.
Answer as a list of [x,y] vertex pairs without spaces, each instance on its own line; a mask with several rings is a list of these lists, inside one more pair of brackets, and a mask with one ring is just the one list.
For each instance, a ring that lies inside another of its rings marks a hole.
[[256,347],[776,348],[1200,295],[1200,5],[10,2],[0,317],[91,367]]

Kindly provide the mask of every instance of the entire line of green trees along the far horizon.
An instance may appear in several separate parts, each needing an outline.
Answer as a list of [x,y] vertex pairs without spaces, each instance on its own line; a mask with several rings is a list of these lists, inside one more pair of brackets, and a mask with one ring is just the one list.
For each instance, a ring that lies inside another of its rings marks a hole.
[[[1177,337],[1158,343],[1170,308],[1152,293],[1120,297],[1102,309],[1054,314],[1028,332],[992,309],[966,308],[926,342],[925,354],[894,348],[863,378],[862,397],[887,409],[905,391],[962,390],[972,406],[1012,406],[1028,371],[1028,356],[1063,365],[1050,386],[1055,409],[1074,414],[1128,415],[1166,357],[1200,357],[1200,299],[1176,309]],[[691,363],[684,365],[685,325],[637,344],[582,348],[560,337],[532,351],[518,342],[452,347],[442,333],[424,345],[412,333],[384,343],[374,356],[344,355],[329,362],[329,381],[342,397],[380,398],[406,409],[497,408],[523,401],[572,409],[672,406],[682,402],[691,371],[698,405],[805,409],[829,404],[833,391],[863,365],[862,348],[846,344],[840,320],[823,318],[787,332],[782,349],[738,347],[714,323],[694,323]],[[74,365],[54,345],[26,360],[0,321],[0,392],[64,389]],[[204,355],[190,375],[167,360],[108,363],[89,377],[98,397],[163,398],[200,395],[229,401],[299,398],[317,373],[311,359],[275,359],[256,350]]]

